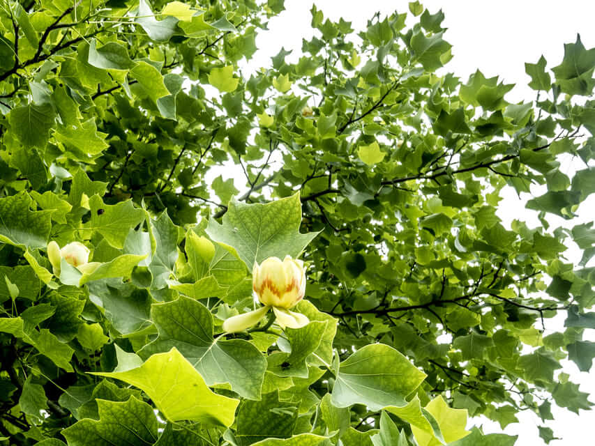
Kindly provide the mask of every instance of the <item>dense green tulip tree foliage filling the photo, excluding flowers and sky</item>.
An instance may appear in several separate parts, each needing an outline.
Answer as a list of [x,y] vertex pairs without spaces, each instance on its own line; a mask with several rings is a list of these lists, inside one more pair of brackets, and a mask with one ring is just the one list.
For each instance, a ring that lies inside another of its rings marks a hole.
[[[281,10],[0,0],[0,444],[512,445],[467,413],[549,442],[552,404],[591,406],[560,361],[595,356],[595,49],[511,104],[445,74],[441,12],[314,7],[303,56],[242,72]],[[541,226],[503,224],[504,187]],[[225,334],[286,255],[310,323]]]

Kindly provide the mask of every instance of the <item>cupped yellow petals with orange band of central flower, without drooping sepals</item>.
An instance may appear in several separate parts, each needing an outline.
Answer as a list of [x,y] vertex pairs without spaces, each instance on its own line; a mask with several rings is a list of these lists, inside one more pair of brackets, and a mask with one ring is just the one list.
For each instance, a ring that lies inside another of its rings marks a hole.
[[263,305],[291,308],[306,293],[306,270],[303,261],[285,256],[283,261],[269,257],[253,268],[252,288]]

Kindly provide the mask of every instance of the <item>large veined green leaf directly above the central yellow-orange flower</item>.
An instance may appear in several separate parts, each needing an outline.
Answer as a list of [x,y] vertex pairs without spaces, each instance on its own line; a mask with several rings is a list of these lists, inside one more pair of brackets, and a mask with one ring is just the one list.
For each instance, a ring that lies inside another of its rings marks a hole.
[[297,258],[317,233],[299,233],[299,194],[267,204],[230,201],[223,224],[209,220],[206,233],[213,240],[234,247],[248,268],[264,259],[286,255]]

